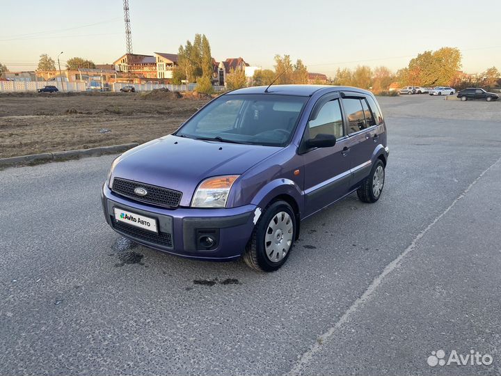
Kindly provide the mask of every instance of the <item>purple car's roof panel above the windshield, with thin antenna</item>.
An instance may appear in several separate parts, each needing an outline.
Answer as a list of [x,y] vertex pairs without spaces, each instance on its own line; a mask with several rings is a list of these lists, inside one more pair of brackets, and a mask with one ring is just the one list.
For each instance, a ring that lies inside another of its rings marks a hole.
[[[268,86],[252,86],[250,88],[241,88],[231,91],[226,95],[234,94],[264,94]],[[331,90],[328,90],[328,89]],[[317,91],[324,90],[326,93],[331,91],[358,91],[359,93],[371,94],[369,91],[351,86],[333,86],[333,85],[271,85],[267,93],[279,95],[296,95],[309,97]]]

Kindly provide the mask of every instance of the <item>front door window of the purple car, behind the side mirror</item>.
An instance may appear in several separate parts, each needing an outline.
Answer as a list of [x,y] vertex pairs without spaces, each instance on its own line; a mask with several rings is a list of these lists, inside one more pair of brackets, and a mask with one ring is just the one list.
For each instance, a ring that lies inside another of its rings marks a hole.
[[308,122],[310,139],[317,134],[333,134],[336,139],[344,135],[339,100],[331,100],[320,109],[317,118]]

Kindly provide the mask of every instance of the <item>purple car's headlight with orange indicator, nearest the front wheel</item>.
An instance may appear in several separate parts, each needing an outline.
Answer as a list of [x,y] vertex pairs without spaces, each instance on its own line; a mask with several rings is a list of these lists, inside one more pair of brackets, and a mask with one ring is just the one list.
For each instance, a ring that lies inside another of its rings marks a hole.
[[239,175],[216,176],[205,179],[198,185],[192,207],[225,207],[230,189]]

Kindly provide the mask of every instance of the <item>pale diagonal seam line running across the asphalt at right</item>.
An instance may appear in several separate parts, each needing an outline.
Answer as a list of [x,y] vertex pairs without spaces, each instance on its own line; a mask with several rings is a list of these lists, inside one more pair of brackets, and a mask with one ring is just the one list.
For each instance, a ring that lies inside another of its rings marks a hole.
[[445,214],[447,214],[447,212],[449,212],[452,209],[452,207],[454,207],[454,205],[456,205],[456,203],[459,200],[461,200],[461,198],[463,198],[464,196],[466,196],[466,194],[468,193],[468,191],[470,191],[470,189],[472,189],[472,187],[475,184],[477,184],[477,182],[482,178],[482,176],[484,176],[487,173],[487,171],[489,171],[490,169],[492,169],[499,162],[501,162],[501,157],[497,161],[495,161],[493,164],[491,164],[491,166],[488,166],[487,169],[485,169],[475,180],[473,180],[473,182],[470,185],[468,185],[468,187],[463,191],[463,193],[461,193],[454,201],[452,201],[452,204],[450,204],[449,207],[447,207],[447,209],[445,209],[442,212],[442,214],[440,214],[433,221],[431,221],[431,224],[429,224],[427,226],[427,228],[424,228],[424,230],[422,230],[419,234],[417,234],[417,236],[413,239],[413,241],[406,248],[406,250],[404,252],[400,253],[400,255],[397,258],[395,258],[395,260],[393,260],[391,263],[389,263],[388,265],[386,265],[386,267],[383,270],[383,272],[381,272],[381,274],[379,274],[379,276],[377,276],[374,279],[374,281],[372,281],[372,283],[365,290],[365,292],[358,299],[356,299],[356,301],[353,304],[351,304],[351,306],[347,309],[346,312],[344,312],[344,314],[340,317],[340,319],[337,320],[337,322],[334,324],[333,327],[330,327],[326,332],[324,332],[324,334],[321,334],[321,336],[319,336],[317,338],[317,341],[313,345],[310,346],[310,348],[308,349],[308,351],[306,351],[303,355],[301,355],[301,358],[299,358],[298,361],[296,361],[296,363],[294,363],[294,366],[292,367],[291,370],[289,370],[289,372],[286,375],[300,375],[301,373],[303,373],[303,371],[305,370],[305,367],[308,366],[308,363],[310,363],[310,361],[312,361],[312,359],[315,356],[315,354],[317,352],[319,352],[319,350],[321,350],[322,346],[325,345],[328,342],[328,340],[331,339],[331,337],[334,335],[336,329],[339,329],[340,327],[342,327],[342,325],[345,322],[348,322],[350,316],[353,313],[355,313],[355,311],[360,306],[362,306],[363,304],[365,304],[365,302],[367,300],[370,299],[372,293],[376,290],[376,288],[379,287],[379,285],[381,285],[381,282],[383,281],[383,279],[385,278],[385,276],[388,276],[388,274],[390,274],[394,269],[396,269],[397,267],[399,267],[399,265],[401,263],[401,260],[407,255],[407,253],[411,252],[415,248],[417,242],[419,242],[419,240],[438,221],[440,221],[440,219]]

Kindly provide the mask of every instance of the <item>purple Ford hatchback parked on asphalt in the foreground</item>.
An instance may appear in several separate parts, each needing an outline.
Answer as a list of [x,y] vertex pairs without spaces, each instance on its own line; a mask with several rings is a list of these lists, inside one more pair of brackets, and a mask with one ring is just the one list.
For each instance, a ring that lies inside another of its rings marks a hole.
[[115,159],[102,205],[111,228],[139,244],[200,260],[243,256],[271,272],[303,219],[353,191],[376,202],[387,160],[369,91],[244,88]]

